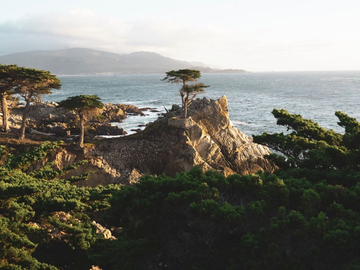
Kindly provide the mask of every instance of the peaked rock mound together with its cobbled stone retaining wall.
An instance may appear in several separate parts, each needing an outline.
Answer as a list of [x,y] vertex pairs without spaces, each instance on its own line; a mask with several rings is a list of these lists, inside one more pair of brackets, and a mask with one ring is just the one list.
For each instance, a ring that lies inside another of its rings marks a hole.
[[87,152],[103,157],[116,168],[137,168],[141,173],[173,176],[197,165],[224,175],[272,171],[275,165],[264,158],[267,147],[253,143],[229,119],[226,96],[217,100],[197,99],[188,110],[193,126],[184,130],[168,126],[168,119],[181,115],[173,106],[165,116],[136,135],[100,143]]

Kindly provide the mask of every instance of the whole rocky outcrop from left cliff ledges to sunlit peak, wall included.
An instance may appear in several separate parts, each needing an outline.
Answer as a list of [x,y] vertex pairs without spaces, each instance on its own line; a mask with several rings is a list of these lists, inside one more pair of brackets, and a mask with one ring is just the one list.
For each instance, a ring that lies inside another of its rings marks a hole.
[[54,149],[29,170],[50,161],[55,161],[54,168],[62,169],[72,162],[87,159],[88,163],[63,176],[67,179],[93,172],[88,180],[75,183],[79,187],[134,185],[145,174],[174,176],[195,165],[203,171],[216,170],[225,176],[274,170],[275,165],[264,158],[270,150],[254,143],[231,123],[225,96],[217,100],[194,100],[188,108],[191,123],[186,129],[172,126],[173,121],[169,121],[181,113],[181,108],[174,105],[165,116],[147,125],[143,131],[100,140],[84,151]]

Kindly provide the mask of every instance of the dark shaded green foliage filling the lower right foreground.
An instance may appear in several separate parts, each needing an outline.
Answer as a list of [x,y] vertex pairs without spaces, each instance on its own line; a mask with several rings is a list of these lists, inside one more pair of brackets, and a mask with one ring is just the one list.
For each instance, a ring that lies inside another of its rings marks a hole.
[[343,135],[285,110],[273,113],[278,124],[292,132],[254,140],[285,155],[269,156],[279,170],[224,177],[194,168],[174,178],[146,176],[122,188],[109,199],[106,217],[124,228],[126,241],[104,247],[106,254],[97,255],[99,265],[360,267],[359,124],[337,112],[346,129]]

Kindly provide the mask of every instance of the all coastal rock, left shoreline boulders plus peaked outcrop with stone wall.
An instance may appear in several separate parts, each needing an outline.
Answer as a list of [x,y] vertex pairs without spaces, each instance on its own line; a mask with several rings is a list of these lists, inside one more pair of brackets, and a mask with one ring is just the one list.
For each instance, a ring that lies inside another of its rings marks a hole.
[[[72,162],[87,159],[89,162],[71,171],[64,177],[93,172],[86,181],[77,186],[124,184],[133,185],[146,174],[165,173],[174,176],[189,171],[193,166],[203,171],[218,171],[230,174],[253,174],[259,170],[273,171],[276,166],[264,158],[270,150],[253,143],[252,138],[236,129],[229,119],[226,96],[217,100],[197,98],[188,107],[189,127],[186,129],[169,125],[181,116],[181,108],[173,105],[166,113],[157,113],[157,120],[141,125],[135,134],[104,139],[99,136],[126,135],[126,131],[112,122],[121,123],[127,117],[144,117],[154,108],[138,108],[134,105],[105,104],[100,117],[90,122],[84,149],[75,149],[71,141],[55,149],[32,169],[47,162],[55,162],[54,168],[62,169]],[[12,128],[17,128],[21,108],[10,114]],[[53,140],[65,140],[77,134],[76,115],[57,104],[32,105],[27,125],[54,134]],[[27,134],[35,140],[47,140],[48,136]],[[67,146],[66,146],[67,145]]]

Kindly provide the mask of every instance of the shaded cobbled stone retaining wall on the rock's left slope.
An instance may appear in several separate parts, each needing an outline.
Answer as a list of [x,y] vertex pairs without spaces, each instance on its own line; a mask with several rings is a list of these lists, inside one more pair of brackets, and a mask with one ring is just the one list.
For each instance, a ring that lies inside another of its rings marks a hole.
[[141,172],[161,174],[172,145],[179,139],[179,131],[151,139],[124,139],[112,144],[102,144],[87,155],[102,156],[118,170],[138,168]]

